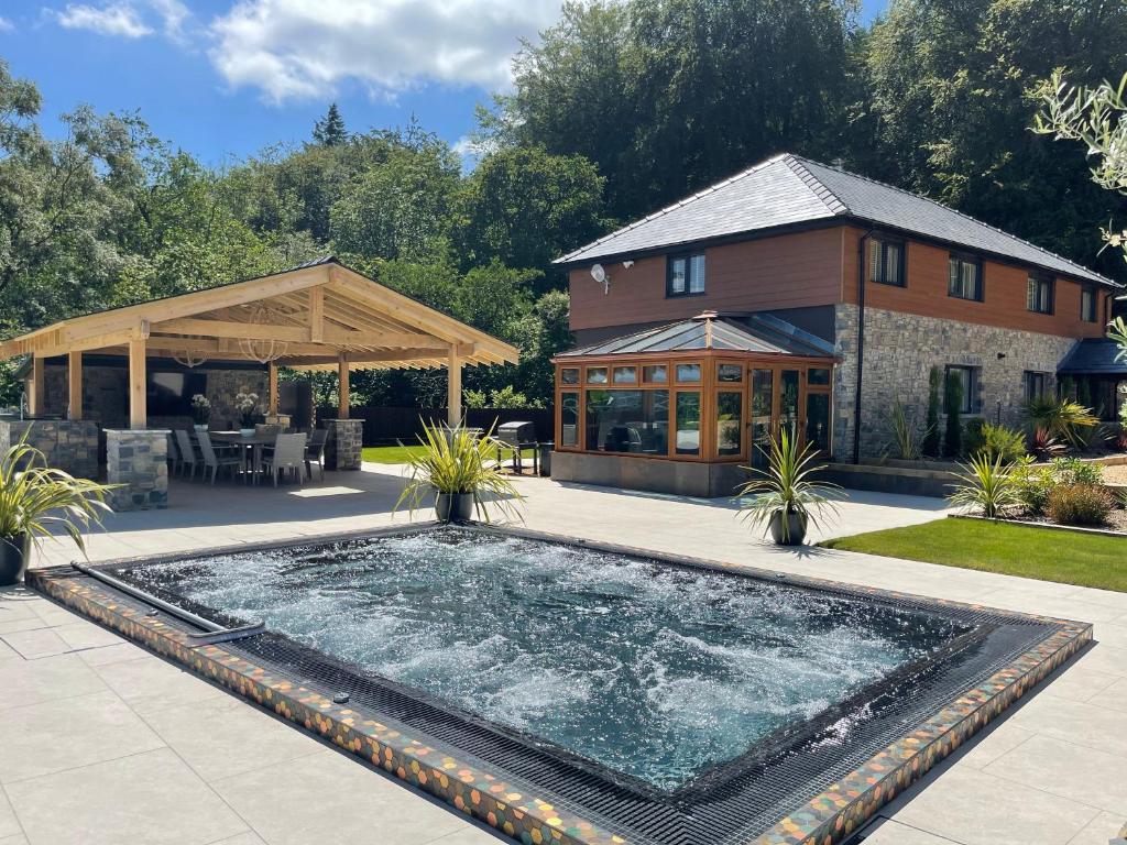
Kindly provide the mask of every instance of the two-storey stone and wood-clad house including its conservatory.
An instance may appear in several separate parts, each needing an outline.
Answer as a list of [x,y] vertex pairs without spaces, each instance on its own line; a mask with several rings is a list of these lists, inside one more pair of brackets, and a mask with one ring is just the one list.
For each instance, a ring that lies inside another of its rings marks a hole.
[[895,402],[923,419],[932,367],[960,379],[964,415],[1005,424],[1066,373],[1099,374],[1111,409],[1127,379],[1102,339],[1120,285],[798,155],[557,264],[576,338],[556,358],[558,478],[727,495],[782,425],[878,459]]

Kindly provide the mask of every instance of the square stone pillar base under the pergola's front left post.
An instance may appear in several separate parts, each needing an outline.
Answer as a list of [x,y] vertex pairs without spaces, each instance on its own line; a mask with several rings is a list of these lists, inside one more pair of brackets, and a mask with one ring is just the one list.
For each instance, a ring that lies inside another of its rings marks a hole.
[[106,475],[114,510],[168,507],[167,429],[106,429]]

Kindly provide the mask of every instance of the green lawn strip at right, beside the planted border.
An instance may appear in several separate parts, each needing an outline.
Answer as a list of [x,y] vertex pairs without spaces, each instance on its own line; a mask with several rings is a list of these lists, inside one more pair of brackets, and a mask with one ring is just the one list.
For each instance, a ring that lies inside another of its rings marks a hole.
[[1127,592],[1127,539],[978,519],[937,519],[820,545],[1042,581]]

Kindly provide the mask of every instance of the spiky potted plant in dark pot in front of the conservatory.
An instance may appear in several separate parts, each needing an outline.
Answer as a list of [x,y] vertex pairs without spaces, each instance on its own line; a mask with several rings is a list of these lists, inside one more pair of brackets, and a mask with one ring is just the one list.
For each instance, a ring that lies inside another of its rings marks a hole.
[[740,501],[740,518],[752,525],[766,525],[771,537],[780,545],[800,545],[806,540],[810,523],[817,524],[816,515],[823,510],[836,513],[832,499],[840,496],[837,484],[811,480],[818,471],[814,466],[816,450],[807,444],[799,447],[798,437],[788,427],[761,447],[767,457],[767,469],[744,469],[756,478],[739,488],[737,497],[754,497],[752,501]]

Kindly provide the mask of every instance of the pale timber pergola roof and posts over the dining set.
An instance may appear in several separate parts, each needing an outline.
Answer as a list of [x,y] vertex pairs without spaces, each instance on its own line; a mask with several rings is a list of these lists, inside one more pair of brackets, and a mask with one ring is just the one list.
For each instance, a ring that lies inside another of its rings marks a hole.
[[82,417],[82,353],[128,357],[130,427],[148,426],[149,356],[258,361],[269,370],[277,413],[279,367],[336,370],[341,419],[355,370],[446,367],[450,422],[461,416],[462,366],[516,363],[517,350],[397,293],[334,257],[204,291],[62,320],[0,344],[0,359],[32,356],[28,406],[44,407],[44,362],[68,356],[70,418]]

